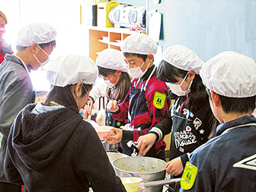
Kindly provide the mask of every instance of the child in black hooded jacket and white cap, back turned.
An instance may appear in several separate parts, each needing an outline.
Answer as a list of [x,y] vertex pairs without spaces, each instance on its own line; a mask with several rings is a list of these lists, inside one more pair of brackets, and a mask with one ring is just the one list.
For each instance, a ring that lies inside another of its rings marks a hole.
[[79,109],[88,102],[98,69],[87,56],[59,56],[46,69],[53,88],[28,104],[11,127],[5,158],[8,181],[28,191],[126,191],[94,127]]

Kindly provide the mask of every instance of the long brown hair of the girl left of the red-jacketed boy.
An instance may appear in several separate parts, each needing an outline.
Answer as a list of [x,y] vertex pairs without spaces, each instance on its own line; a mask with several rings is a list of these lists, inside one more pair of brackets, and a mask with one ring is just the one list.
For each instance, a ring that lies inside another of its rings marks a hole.
[[[117,70],[107,69],[101,66],[98,66],[99,75],[101,77],[106,77],[107,75],[113,75]],[[120,80],[115,86],[115,88],[108,88],[106,92],[106,97],[108,99],[114,99],[117,101],[123,101],[126,97],[131,86],[131,78],[127,72],[122,72],[120,75]]]

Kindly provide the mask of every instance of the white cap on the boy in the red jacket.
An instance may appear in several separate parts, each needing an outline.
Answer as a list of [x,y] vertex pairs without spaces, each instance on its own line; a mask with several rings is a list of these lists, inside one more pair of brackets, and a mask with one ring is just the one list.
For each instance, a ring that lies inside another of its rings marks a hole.
[[123,40],[121,51],[123,53],[155,55],[157,47],[157,43],[146,34],[132,34]]

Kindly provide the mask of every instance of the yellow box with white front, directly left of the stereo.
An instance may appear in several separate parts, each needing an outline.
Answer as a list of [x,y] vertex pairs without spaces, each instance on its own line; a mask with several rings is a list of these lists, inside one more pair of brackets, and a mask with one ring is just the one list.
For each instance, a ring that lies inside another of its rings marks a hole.
[[98,3],[98,8],[97,8],[98,27],[114,27],[114,25],[110,23],[108,14],[110,12],[110,9],[116,5],[120,5],[120,3],[117,3],[117,2],[100,2],[100,3]]

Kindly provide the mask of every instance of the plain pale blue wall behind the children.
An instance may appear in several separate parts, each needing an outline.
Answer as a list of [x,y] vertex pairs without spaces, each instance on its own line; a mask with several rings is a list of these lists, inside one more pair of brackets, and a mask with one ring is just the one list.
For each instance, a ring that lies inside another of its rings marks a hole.
[[204,61],[218,53],[233,50],[256,61],[255,0],[152,0],[149,11],[162,12],[159,45],[164,50],[182,44]]

